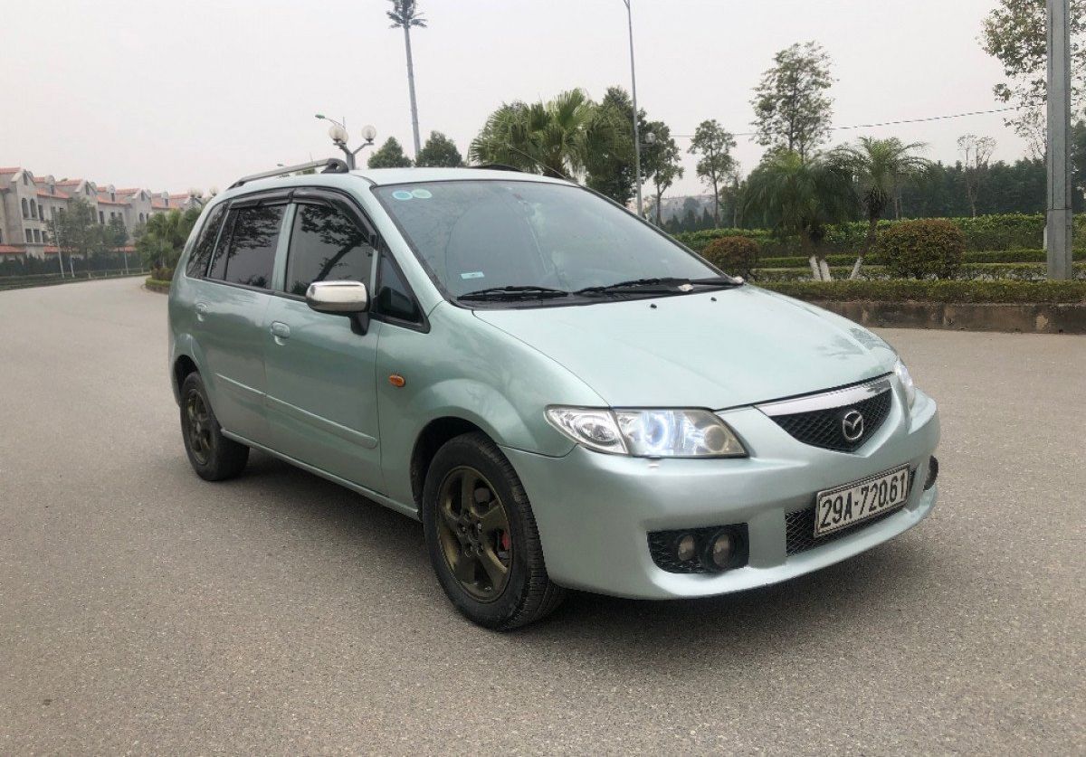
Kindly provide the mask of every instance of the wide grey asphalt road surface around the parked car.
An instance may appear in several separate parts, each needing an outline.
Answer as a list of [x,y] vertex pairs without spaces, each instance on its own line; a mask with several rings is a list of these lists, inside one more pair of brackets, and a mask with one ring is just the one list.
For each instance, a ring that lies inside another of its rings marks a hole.
[[166,298],[0,294],[0,753],[1086,750],[1086,337],[885,331],[940,402],[918,528],[763,590],[462,620],[421,527],[189,469]]

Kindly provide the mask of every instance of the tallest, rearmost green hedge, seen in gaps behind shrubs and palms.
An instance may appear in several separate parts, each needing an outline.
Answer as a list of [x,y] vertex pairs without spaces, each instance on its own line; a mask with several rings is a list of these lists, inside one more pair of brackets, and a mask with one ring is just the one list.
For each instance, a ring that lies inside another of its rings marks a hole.
[[[1044,214],[1009,213],[976,218],[947,218],[965,234],[965,251],[992,252],[1008,249],[1037,249],[1044,245]],[[879,221],[879,229],[886,229],[899,221]],[[831,228],[823,248],[828,253],[856,253],[863,248],[868,234],[867,221],[853,221]],[[711,240],[720,236],[747,236],[761,247],[761,257],[796,255],[797,240],[779,240],[768,229],[707,229],[675,234],[675,239],[700,252]],[[1075,246],[1086,248],[1086,216],[1075,217]],[[1007,262],[1018,262],[1009,260]]]

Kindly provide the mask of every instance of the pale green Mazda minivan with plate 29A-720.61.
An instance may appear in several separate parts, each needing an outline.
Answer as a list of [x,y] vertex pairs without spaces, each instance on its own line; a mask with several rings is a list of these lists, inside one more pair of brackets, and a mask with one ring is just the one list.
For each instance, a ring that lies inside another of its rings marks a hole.
[[319,167],[239,180],[178,264],[203,478],[257,449],[421,521],[442,589],[496,629],[568,589],[782,581],[932,511],[935,402],[870,331],[574,183]]

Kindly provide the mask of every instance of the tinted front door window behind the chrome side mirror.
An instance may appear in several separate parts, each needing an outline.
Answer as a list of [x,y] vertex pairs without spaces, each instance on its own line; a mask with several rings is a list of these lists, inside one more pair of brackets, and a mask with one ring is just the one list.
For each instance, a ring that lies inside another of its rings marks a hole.
[[369,285],[374,248],[368,235],[331,205],[299,205],[287,255],[286,291],[304,295],[314,281]]

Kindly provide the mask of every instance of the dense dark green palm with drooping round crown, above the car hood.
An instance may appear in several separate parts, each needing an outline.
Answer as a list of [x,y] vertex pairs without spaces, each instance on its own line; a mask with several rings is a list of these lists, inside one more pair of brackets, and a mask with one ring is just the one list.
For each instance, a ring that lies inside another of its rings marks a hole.
[[828,226],[848,220],[856,208],[853,177],[824,155],[806,161],[799,153],[770,153],[747,178],[744,214],[760,214],[781,236],[798,236],[810,258],[811,275],[830,280],[830,267],[819,245]]

